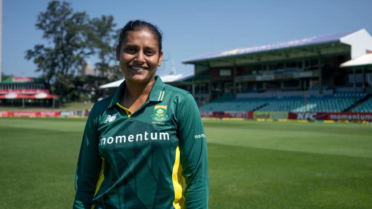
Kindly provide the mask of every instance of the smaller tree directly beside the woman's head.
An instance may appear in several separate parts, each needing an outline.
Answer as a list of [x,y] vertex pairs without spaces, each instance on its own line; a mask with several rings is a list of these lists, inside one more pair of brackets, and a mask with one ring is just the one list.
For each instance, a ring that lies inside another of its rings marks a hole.
[[116,39],[118,38],[115,26],[114,17],[111,15],[102,15],[101,18],[93,18],[89,21],[89,46],[99,60],[94,65],[100,72],[100,76],[107,78],[108,81],[122,77],[115,63]]

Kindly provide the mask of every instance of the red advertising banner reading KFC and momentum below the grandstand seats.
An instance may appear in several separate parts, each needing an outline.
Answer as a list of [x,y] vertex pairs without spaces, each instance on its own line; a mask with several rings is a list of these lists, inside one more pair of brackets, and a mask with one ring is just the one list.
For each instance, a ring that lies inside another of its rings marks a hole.
[[294,120],[343,120],[343,121],[372,121],[372,113],[363,112],[331,112],[331,113],[319,113],[319,112],[290,112],[288,113],[288,119]]

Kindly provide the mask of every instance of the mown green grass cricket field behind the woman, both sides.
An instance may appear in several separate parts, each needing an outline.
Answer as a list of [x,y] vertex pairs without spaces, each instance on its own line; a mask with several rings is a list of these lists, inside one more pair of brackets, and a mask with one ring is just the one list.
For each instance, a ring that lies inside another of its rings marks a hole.
[[[0,208],[71,208],[85,118],[0,118]],[[205,121],[211,209],[371,209],[372,125]]]

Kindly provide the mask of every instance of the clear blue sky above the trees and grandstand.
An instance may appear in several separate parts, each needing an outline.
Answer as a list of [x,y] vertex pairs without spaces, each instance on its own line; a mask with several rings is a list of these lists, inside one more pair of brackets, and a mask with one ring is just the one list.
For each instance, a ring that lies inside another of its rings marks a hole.
[[[38,76],[24,52],[44,43],[36,30],[38,14],[48,0],[2,1],[2,71]],[[113,15],[117,28],[142,19],[163,31],[167,58],[158,74],[193,71],[181,62],[200,54],[256,46],[365,28],[372,34],[372,0],[73,0],[74,11],[90,17]],[[90,58],[94,62],[94,57]]]

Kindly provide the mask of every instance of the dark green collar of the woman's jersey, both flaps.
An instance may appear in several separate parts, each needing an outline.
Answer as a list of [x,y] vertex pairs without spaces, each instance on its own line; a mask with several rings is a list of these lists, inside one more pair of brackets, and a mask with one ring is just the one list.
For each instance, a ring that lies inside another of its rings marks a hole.
[[[120,104],[120,98],[123,94],[123,89],[125,89],[125,80],[117,87],[117,90],[114,94],[113,99],[111,100],[111,103],[109,105],[109,108],[116,105],[116,103]],[[165,84],[163,83],[162,79],[159,76],[155,76],[155,84],[152,86],[152,89],[149,94],[149,101],[150,102],[160,102],[163,101],[164,97],[164,88]]]

